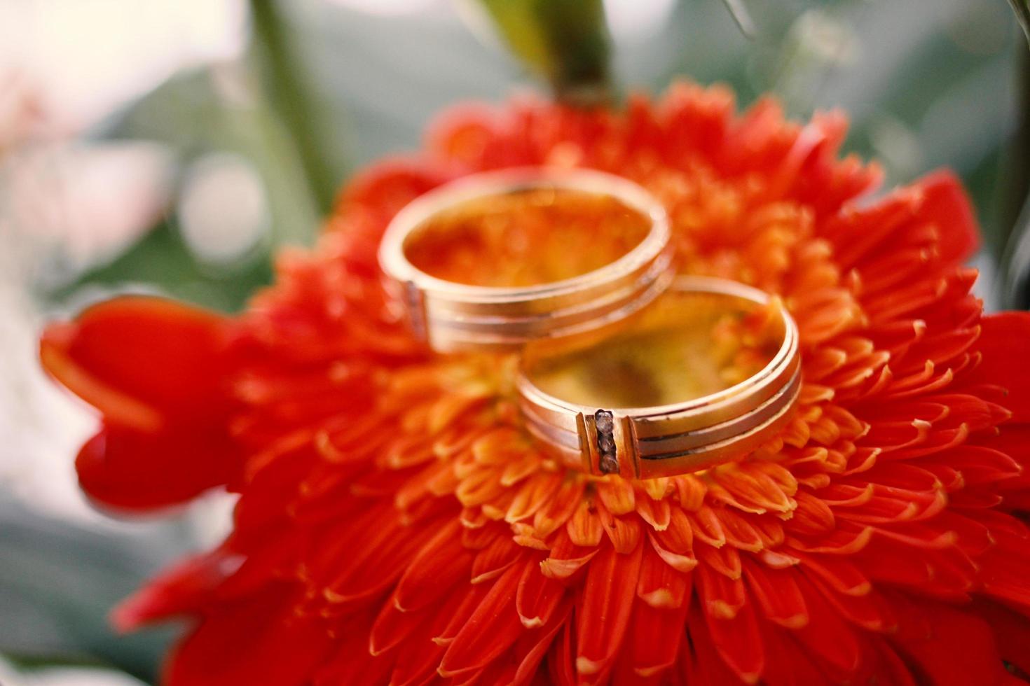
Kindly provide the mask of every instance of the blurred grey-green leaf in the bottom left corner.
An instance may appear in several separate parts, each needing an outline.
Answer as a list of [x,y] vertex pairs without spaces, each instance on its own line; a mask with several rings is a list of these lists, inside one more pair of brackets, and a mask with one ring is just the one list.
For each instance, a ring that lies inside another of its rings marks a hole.
[[115,666],[151,680],[174,627],[115,635],[107,613],[187,548],[173,523],[101,533],[0,492],[0,652],[21,664]]

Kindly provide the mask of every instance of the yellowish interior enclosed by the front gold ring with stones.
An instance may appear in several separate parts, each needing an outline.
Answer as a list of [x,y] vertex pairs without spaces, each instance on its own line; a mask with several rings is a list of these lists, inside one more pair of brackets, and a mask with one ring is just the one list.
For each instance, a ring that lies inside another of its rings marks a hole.
[[674,290],[600,331],[533,344],[523,372],[538,389],[569,403],[672,405],[761,371],[780,349],[784,326],[772,303]]

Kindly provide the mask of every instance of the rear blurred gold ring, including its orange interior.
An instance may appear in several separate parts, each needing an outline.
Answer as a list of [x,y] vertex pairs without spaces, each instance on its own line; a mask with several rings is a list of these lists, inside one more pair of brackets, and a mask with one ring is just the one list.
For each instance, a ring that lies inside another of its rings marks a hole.
[[661,204],[588,170],[464,177],[405,207],[379,251],[413,331],[437,352],[517,350],[619,321],[675,278]]

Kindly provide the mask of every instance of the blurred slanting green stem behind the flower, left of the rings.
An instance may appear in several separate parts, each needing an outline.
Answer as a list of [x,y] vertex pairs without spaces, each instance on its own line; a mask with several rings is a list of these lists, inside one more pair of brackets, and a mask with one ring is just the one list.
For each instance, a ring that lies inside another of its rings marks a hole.
[[301,60],[293,49],[275,0],[250,0],[250,16],[269,102],[297,149],[318,209],[328,213],[336,196],[337,179],[318,138],[318,118],[304,82]]

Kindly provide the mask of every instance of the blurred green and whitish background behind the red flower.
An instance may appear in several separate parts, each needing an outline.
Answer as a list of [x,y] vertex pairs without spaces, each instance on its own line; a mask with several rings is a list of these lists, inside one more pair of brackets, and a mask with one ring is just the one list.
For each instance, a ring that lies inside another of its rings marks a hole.
[[[1030,60],[1009,5],[728,4],[735,19],[721,0],[606,0],[616,97],[686,76],[745,106],[771,92],[800,118],[846,109],[847,149],[879,158],[887,187],[963,177],[978,292],[1026,306]],[[123,290],[238,310],[354,170],[416,148],[448,104],[525,88],[547,86],[477,0],[0,0],[0,683],[152,680],[170,633],[118,639],[105,611],[216,541],[231,507],[92,512],[71,456],[94,420],[37,370],[40,323]]]

